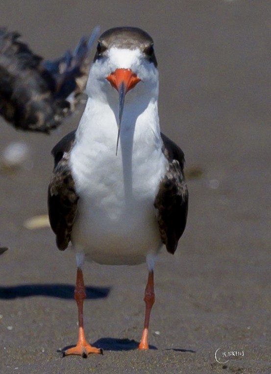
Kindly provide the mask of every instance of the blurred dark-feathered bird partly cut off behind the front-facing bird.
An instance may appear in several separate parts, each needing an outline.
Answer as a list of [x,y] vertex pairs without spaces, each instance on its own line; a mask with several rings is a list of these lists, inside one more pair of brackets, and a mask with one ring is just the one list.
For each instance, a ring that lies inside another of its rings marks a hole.
[[96,27],[73,53],[51,61],[33,53],[17,31],[0,28],[0,115],[24,131],[49,133],[59,126],[84,90],[98,34]]

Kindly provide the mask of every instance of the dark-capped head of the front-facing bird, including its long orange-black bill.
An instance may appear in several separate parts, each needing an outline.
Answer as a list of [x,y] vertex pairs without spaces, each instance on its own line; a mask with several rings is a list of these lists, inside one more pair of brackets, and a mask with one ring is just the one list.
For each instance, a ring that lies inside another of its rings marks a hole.
[[123,27],[109,29],[99,37],[86,92],[96,100],[118,105],[117,149],[124,100],[132,105],[157,100],[158,85],[153,40],[147,32]]

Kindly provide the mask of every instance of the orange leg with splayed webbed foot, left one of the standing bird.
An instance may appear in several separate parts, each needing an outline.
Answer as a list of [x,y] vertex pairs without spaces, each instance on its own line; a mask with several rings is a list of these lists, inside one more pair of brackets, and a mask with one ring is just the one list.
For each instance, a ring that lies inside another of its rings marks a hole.
[[73,348],[69,348],[65,350],[64,356],[69,354],[79,354],[82,357],[87,357],[89,353],[101,353],[102,349],[93,347],[92,345],[88,344],[84,334],[84,320],[83,320],[83,303],[84,299],[86,298],[85,292],[85,285],[83,279],[83,272],[82,269],[79,267],[77,268],[77,276],[76,276],[76,287],[74,290],[74,299],[77,303],[78,308],[78,342],[77,345]]

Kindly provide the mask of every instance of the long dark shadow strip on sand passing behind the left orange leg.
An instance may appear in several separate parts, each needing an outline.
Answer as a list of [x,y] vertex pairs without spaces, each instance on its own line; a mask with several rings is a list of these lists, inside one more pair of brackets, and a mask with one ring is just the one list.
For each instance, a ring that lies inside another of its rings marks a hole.
[[[86,287],[87,299],[107,297],[110,287]],[[1,286],[0,299],[16,299],[19,297],[47,296],[60,299],[73,299],[74,286],[66,284],[28,284],[18,286]]]

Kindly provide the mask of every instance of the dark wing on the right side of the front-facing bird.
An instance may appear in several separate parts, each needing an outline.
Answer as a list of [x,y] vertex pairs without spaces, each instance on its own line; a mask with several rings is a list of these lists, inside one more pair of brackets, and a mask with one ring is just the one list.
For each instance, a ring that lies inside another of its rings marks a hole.
[[157,220],[162,242],[167,251],[173,254],[186,226],[188,190],[183,173],[183,151],[164,134],[161,133],[161,137],[170,167],[160,182],[154,206],[158,211]]

